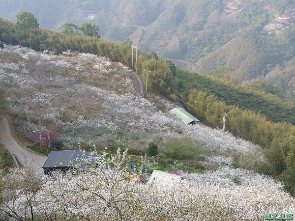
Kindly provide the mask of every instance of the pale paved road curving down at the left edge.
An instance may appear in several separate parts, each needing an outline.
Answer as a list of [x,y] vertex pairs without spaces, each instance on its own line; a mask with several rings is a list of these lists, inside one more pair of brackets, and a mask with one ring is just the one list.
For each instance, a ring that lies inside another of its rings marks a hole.
[[11,135],[8,120],[2,116],[0,116],[0,140],[13,157],[15,157],[15,155],[17,156],[22,165],[32,166],[37,172],[42,172],[41,166],[44,164],[47,157],[35,154],[21,147]]

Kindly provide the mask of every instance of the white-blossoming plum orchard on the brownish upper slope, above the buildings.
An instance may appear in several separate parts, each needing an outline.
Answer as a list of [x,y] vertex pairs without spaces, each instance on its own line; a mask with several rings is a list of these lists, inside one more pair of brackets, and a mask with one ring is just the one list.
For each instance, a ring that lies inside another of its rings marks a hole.
[[183,125],[167,110],[157,111],[136,96],[128,73],[105,57],[70,51],[51,55],[7,45],[0,53],[13,57],[14,62],[0,63],[0,83],[9,91],[10,109],[23,116],[18,122],[23,134],[36,130],[39,102],[42,126],[58,129],[69,146],[99,144],[123,134],[120,139],[130,148],[143,150],[143,143],[186,136],[207,150],[260,154],[259,147],[229,133]]

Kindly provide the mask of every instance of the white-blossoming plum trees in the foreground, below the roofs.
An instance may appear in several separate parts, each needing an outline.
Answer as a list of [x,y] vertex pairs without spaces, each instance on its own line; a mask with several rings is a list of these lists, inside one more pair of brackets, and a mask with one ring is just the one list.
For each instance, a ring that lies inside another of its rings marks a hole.
[[[89,166],[87,172],[79,170],[85,164],[96,166]],[[260,221],[267,212],[295,211],[295,199],[280,183],[232,166],[205,174],[182,174],[186,177],[183,181],[162,186],[145,184],[142,168],[130,171],[126,152],[120,150],[112,156],[92,152],[80,165],[65,174],[42,176],[38,182],[30,180],[34,175],[28,168],[2,173],[5,191],[0,193],[0,217]]]

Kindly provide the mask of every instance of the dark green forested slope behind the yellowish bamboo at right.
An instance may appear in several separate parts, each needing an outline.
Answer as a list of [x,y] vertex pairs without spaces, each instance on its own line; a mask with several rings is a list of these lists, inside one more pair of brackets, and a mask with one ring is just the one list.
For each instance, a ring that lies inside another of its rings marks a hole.
[[184,96],[188,96],[191,89],[202,90],[216,96],[227,105],[260,112],[272,122],[286,121],[295,124],[295,105],[291,102],[283,102],[274,95],[243,86],[229,85],[212,78],[187,73],[187,71],[179,71],[176,78],[176,89]]

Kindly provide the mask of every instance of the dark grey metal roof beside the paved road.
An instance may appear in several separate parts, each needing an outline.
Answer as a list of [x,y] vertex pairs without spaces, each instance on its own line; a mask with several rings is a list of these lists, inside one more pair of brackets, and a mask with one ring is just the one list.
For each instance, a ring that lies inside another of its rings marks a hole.
[[[66,167],[70,166],[70,162],[72,164],[75,163],[76,159],[78,161],[81,160],[84,156],[83,151],[81,150],[60,150],[60,151],[52,151],[47,157],[42,168],[45,167]],[[85,152],[85,156],[89,156],[89,152]]]

